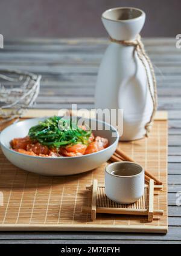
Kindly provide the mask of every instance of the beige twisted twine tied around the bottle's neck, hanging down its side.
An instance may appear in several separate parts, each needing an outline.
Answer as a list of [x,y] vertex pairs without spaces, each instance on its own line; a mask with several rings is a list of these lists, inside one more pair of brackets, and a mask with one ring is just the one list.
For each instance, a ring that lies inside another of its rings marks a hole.
[[[110,38],[110,41],[115,42],[117,44],[122,44],[125,46],[135,47],[135,51],[138,54],[138,57],[139,57],[140,61],[142,62],[142,65],[144,65],[145,73],[147,76],[148,90],[150,92],[151,100],[153,102],[153,111],[152,111],[150,120],[145,125],[145,130],[146,130],[145,136],[148,137],[148,134],[150,133],[150,130],[151,130],[151,126],[153,125],[154,114],[156,113],[156,109],[157,109],[157,88],[156,88],[156,78],[154,75],[153,65],[151,64],[150,58],[148,57],[147,53],[145,53],[144,44],[142,44],[141,36],[139,34],[138,34],[137,38],[133,41],[124,41],[124,40],[119,41],[119,40],[116,40],[113,38]],[[148,71],[147,64],[148,64],[148,67],[150,68],[151,77],[153,80],[153,88],[154,88],[153,93],[151,91],[151,84],[150,84],[149,71]]]

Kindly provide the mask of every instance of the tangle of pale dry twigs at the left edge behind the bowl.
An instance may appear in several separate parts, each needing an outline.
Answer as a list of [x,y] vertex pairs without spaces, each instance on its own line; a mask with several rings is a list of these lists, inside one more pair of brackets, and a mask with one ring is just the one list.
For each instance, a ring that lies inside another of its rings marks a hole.
[[0,122],[21,117],[39,94],[41,76],[17,70],[0,70]]

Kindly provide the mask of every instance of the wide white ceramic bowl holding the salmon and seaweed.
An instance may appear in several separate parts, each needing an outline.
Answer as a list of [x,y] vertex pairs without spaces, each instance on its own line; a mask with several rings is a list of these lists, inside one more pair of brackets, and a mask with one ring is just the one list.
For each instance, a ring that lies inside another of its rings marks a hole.
[[[109,140],[109,146],[97,153],[76,157],[36,157],[17,153],[10,149],[10,141],[12,139],[27,136],[30,127],[37,125],[40,120],[45,120],[45,117],[14,123],[1,132],[0,142],[5,157],[11,163],[26,171],[46,176],[68,176],[90,171],[106,162],[112,156],[118,144],[119,134],[113,126],[91,119],[91,123],[94,126],[98,123],[103,123],[106,128],[101,131],[98,129],[93,130],[95,136],[106,137]],[[112,136],[113,133],[115,136]]]

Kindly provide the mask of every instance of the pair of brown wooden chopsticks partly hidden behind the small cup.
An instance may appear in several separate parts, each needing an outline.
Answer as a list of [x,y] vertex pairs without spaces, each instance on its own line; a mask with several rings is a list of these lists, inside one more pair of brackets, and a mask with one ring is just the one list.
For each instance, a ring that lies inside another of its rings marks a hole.
[[[124,153],[124,151],[122,151],[121,149],[116,148],[115,153],[113,154],[113,156],[111,157],[111,159],[113,160],[113,162],[116,161],[129,161],[129,162],[135,162],[135,160],[133,160],[131,157],[127,156],[127,154]],[[110,160],[111,160],[110,159]],[[160,182],[160,180],[158,180],[156,177],[154,177],[150,172],[148,172],[147,170],[145,170],[145,179],[146,180],[150,180],[153,179],[154,182],[157,185],[162,185],[162,182]]]

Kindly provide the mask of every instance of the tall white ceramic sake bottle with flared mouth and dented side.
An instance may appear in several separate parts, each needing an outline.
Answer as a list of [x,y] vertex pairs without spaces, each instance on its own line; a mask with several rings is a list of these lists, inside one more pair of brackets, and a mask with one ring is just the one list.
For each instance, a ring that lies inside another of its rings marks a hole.
[[[145,13],[137,8],[113,8],[102,15],[109,36],[118,41],[133,41],[140,33]],[[149,67],[148,76],[151,80]],[[151,80],[151,91],[153,82]],[[97,77],[95,108],[122,109],[121,140],[141,139],[153,111],[145,68],[134,46],[110,42]]]

